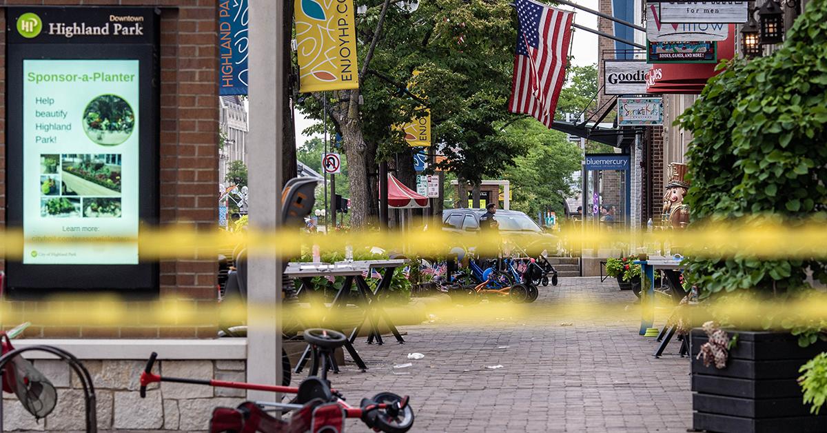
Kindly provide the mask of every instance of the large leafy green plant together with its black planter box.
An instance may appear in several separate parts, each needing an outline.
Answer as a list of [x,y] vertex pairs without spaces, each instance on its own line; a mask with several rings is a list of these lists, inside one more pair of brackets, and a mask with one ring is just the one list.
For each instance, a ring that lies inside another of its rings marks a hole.
[[[681,126],[693,136],[686,155],[692,180],[685,200],[689,229],[734,220],[760,224],[762,215],[796,229],[823,217],[827,152],[813,150],[827,142],[827,80],[798,74],[823,65],[825,47],[823,7],[807,7],[780,49],[748,62],[730,61],[681,116]],[[818,296],[808,275],[827,281],[823,255],[808,253],[707,253],[687,256],[683,266],[702,302],[726,297],[735,306],[743,299],[739,293],[763,303],[806,301],[805,296]],[[691,352],[700,355],[691,363],[693,428],[825,431],[827,414],[810,413],[805,399],[818,403],[824,397],[824,363],[813,357],[827,351],[827,321],[793,322],[779,315],[722,325],[692,330]],[[717,354],[715,362],[709,354]]]

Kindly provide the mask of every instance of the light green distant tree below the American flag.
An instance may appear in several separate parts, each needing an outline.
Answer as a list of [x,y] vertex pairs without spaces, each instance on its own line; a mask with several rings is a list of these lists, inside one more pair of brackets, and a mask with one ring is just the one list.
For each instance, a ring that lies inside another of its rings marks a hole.
[[563,132],[531,118],[513,123],[505,133],[508,140],[529,149],[527,155],[515,158],[514,168],[505,174],[513,191],[511,209],[532,216],[546,208],[562,214],[562,202],[575,186],[571,175],[581,167],[580,147],[566,140]]

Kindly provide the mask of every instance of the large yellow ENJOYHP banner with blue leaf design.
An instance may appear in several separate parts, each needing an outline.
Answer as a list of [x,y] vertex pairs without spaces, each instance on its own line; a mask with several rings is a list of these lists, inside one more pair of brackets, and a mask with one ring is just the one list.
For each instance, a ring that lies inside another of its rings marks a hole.
[[353,0],[295,0],[299,91],[359,88]]

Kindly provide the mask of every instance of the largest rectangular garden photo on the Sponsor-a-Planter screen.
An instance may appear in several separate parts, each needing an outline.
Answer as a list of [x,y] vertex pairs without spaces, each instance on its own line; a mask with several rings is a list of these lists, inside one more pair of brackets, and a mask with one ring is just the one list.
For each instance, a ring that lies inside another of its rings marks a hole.
[[121,195],[120,154],[65,154],[60,159],[62,180],[71,195]]

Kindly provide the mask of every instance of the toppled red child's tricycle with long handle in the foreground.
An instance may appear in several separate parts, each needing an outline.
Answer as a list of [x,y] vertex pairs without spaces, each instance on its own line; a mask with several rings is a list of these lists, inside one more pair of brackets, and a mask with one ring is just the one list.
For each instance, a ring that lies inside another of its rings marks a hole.
[[[338,390],[330,387],[330,382],[327,380],[327,359],[332,358],[334,349],[345,344],[347,341],[345,334],[332,330],[313,329],[304,331],[304,339],[311,344],[313,363],[310,368],[310,377],[304,379],[299,387],[211,379],[165,378],[152,373],[152,366],[158,356],[153,352],[146,361],[144,372],[141,373],[141,397],[146,397],[146,386],[155,382],[194,383],[211,387],[295,395],[287,403],[244,402],[235,409],[218,407],[213,411],[213,417],[210,420],[209,431],[211,433],[342,432],[347,418],[359,418],[369,428],[386,433],[404,433],[414,426],[414,410],[410,407],[407,396],[399,397],[391,392],[380,392],[370,399],[363,398],[358,407],[352,407],[345,402]],[[318,377],[317,374],[319,374]],[[282,419],[270,416],[268,411],[292,413],[287,419]]]

